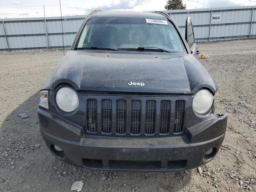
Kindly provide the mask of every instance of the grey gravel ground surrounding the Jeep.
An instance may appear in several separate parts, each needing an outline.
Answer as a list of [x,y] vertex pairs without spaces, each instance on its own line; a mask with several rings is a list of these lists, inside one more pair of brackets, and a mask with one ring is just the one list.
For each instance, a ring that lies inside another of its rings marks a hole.
[[57,160],[42,140],[36,110],[62,52],[0,53],[0,191],[68,192],[80,180],[83,192],[256,191],[256,40],[204,43],[199,50],[210,55],[198,59],[216,83],[216,113],[229,115],[228,127],[214,160],[176,173],[99,172]]

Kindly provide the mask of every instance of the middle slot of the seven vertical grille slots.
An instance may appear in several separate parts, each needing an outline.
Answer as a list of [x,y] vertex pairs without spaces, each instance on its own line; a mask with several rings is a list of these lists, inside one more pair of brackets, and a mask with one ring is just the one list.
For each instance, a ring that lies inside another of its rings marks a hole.
[[141,122],[141,101],[132,100],[131,102],[131,133],[140,133],[140,122]]

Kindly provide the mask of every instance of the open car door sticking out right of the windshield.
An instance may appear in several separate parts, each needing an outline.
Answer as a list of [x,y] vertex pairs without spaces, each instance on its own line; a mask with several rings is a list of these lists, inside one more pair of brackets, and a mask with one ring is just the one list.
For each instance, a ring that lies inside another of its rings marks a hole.
[[199,54],[198,46],[195,42],[194,29],[190,17],[187,17],[186,19],[185,39],[186,42],[188,43],[188,47],[192,55],[195,56],[196,54]]

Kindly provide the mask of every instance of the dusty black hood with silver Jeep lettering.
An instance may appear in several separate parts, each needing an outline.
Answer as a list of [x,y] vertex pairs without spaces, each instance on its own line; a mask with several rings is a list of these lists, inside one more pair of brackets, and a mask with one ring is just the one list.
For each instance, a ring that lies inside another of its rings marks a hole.
[[[136,85],[129,85],[136,83]],[[191,54],[69,51],[43,89],[71,84],[76,90],[189,94],[216,87]]]

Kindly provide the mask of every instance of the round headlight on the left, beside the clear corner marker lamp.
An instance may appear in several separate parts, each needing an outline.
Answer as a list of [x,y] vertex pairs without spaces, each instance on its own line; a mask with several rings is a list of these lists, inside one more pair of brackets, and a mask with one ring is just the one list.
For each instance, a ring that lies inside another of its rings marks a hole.
[[56,94],[56,103],[65,112],[74,111],[78,106],[78,102],[78,96],[72,88],[60,88]]

